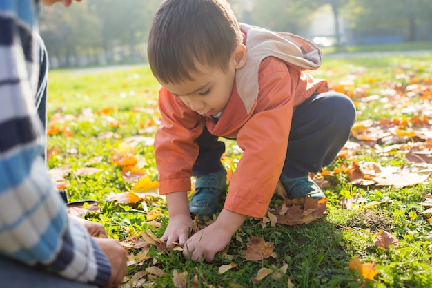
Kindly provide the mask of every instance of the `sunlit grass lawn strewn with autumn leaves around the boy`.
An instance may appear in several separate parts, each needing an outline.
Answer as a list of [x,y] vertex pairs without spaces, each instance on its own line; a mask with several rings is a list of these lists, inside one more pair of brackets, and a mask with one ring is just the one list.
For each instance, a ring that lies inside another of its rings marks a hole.
[[[431,214],[421,204],[432,193],[431,62],[432,54],[325,59],[313,75],[349,95],[358,115],[340,157],[313,175],[328,198],[324,217],[275,227],[270,218],[250,218],[210,264],[151,244],[164,233],[168,211],[152,190],[159,86],[147,66],[50,72],[48,166],[70,201],[98,201],[71,213],[86,212],[129,247],[123,287],[432,287]],[[241,151],[226,143],[223,162],[235,171]],[[388,170],[393,174],[384,175]],[[363,177],[353,180],[355,171]],[[281,207],[275,198],[269,211]],[[384,241],[389,247],[375,244],[382,231],[392,236]],[[241,251],[253,237],[273,244],[273,256],[245,259]],[[357,269],[350,269],[355,258]],[[219,270],[224,265],[230,269]],[[262,268],[271,274],[257,280]],[[365,280],[368,273],[373,280]]]

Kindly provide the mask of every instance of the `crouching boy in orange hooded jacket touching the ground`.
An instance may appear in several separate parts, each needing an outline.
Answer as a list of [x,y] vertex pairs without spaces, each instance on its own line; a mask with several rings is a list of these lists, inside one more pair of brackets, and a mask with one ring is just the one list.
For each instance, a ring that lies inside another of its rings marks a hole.
[[[304,72],[320,66],[317,46],[237,23],[226,0],[166,0],[148,59],[162,86],[155,157],[170,215],[167,247],[179,242],[186,258],[212,261],[247,216],[266,215],[279,178],[287,198],[325,197],[308,173],[335,159],[355,108]],[[236,139],[244,154],[217,220],[188,238],[190,212],[217,212],[226,192],[218,136]]]

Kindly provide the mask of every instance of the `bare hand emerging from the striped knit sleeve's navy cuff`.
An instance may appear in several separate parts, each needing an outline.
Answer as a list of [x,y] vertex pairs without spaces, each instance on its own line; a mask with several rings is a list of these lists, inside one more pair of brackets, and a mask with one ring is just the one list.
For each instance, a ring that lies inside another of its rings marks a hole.
[[118,240],[108,238],[93,238],[93,240],[104,251],[111,265],[111,278],[101,288],[117,288],[128,273],[128,252]]

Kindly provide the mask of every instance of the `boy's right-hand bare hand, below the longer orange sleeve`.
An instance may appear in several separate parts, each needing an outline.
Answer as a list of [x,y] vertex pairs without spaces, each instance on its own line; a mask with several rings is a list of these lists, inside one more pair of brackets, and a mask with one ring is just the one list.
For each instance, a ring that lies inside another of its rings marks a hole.
[[213,224],[198,231],[186,241],[183,247],[184,257],[195,262],[215,260],[216,253],[226,247],[246,217],[223,209]]

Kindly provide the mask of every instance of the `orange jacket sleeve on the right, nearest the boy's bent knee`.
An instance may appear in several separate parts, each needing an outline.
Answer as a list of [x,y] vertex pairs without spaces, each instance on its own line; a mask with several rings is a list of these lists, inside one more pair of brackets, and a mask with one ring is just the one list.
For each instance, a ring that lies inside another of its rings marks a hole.
[[225,209],[253,217],[266,215],[286,157],[295,77],[280,60],[262,61],[254,114],[237,134],[244,153],[231,179]]

